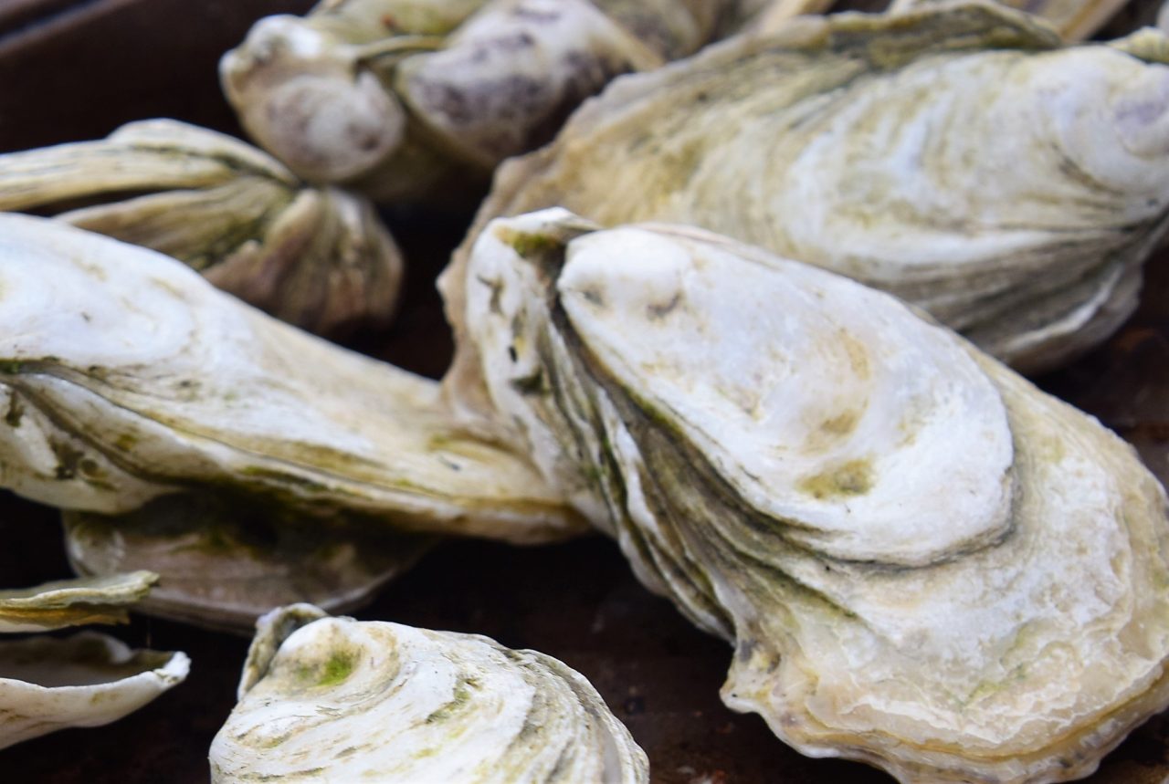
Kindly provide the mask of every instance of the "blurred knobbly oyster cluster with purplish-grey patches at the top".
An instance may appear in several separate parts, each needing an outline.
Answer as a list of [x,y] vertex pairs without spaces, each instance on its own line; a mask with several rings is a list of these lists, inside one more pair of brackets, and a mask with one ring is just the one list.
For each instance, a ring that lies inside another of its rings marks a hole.
[[734,0],[338,0],[224,55],[248,132],[314,182],[449,203],[606,82],[696,51]]

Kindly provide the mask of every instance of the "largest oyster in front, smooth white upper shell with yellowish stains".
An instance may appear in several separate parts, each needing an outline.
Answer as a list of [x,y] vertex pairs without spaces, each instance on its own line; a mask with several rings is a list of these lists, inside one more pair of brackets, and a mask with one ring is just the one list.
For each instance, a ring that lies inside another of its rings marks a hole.
[[465,275],[451,394],[734,640],[724,700],[798,750],[1065,780],[1169,705],[1164,491],[953,333],[714,235],[561,210],[492,223]]

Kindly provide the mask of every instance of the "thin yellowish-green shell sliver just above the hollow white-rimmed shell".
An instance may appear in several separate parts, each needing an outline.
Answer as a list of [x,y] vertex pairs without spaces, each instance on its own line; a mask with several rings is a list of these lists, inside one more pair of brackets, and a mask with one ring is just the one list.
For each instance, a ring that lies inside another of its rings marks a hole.
[[0,633],[126,622],[126,609],[150,594],[158,575],[118,573],[0,590]]

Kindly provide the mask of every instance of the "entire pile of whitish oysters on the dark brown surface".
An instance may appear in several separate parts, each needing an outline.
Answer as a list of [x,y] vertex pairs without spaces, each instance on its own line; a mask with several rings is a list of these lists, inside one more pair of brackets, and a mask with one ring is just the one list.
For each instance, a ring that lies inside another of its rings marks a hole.
[[[324,0],[223,57],[264,151],[145,120],[0,155],[40,215],[0,215],[0,486],[78,574],[0,631],[258,618],[217,782],[646,782],[560,661],[328,617],[445,537],[596,529],[807,755],[1091,773],[1169,707],[1165,492],[1019,373],[1125,322],[1169,227],[1169,41],[1077,43],[1115,7]],[[442,382],[302,329],[393,317],[375,204],[492,176]],[[5,745],[188,665],[0,660]]]

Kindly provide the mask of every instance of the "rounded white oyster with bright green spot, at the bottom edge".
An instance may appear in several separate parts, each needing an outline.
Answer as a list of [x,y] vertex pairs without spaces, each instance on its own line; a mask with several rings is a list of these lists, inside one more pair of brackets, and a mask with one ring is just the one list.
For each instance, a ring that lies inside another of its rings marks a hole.
[[258,624],[213,782],[649,782],[629,731],[556,659],[323,616]]

